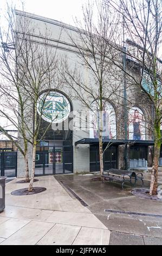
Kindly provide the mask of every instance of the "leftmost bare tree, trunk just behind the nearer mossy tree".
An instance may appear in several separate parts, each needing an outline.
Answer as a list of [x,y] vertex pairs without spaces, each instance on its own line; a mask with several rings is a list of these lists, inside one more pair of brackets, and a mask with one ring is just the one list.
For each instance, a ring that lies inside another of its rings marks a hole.
[[15,10],[8,6],[8,16],[6,17],[8,27],[6,31],[1,30],[1,117],[5,123],[9,123],[20,134],[22,134],[23,143],[15,141],[7,129],[4,129],[4,123],[1,124],[1,132],[4,133],[23,154],[25,161],[25,180],[29,181],[28,167],[28,139],[25,130],[24,110],[27,97],[23,97],[21,92],[21,80],[18,75],[18,53],[15,47]]

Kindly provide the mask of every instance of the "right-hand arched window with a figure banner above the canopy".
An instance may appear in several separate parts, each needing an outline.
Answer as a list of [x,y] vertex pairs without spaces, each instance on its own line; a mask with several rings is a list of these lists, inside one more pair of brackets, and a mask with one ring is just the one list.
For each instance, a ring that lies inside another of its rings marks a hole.
[[132,107],[128,113],[128,139],[145,141],[146,126],[144,113],[138,107]]

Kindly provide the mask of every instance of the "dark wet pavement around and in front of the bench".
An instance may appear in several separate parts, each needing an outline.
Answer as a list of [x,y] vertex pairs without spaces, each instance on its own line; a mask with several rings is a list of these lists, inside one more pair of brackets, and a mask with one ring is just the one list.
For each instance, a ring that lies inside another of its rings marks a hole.
[[[162,202],[139,198],[131,194],[129,184],[121,189],[121,182],[99,181],[98,174],[56,175],[55,178],[74,197],[80,198],[92,213],[111,230],[110,245],[162,245]],[[151,173],[144,173],[144,187],[150,186]],[[159,172],[159,185],[162,172]],[[141,181],[135,187],[141,188]],[[70,188],[71,191],[68,190]],[[74,192],[72,194],[72,191]],[[82,203],[82,202],[81,202]],[[131,211],[146,216],[106,212]]]

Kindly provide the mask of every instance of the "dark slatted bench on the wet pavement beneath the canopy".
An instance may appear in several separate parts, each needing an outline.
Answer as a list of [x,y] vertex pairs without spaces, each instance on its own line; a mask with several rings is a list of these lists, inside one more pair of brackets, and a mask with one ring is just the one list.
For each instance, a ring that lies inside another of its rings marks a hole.
[[142,186],[144,186],[142,173],[136,174],[135,172],[133,172],[131,170],[120,170],[120,169],[109,169],[109,170],[106,170],[105,172],[106,172],[106,174],[105,173],[102,174],[102,177],[104,178],[104,180],[121,181],[122,189],[123,189],[124,183],[126,181],[129,181],[131,186],[135,186],[137,180],[141,180]]

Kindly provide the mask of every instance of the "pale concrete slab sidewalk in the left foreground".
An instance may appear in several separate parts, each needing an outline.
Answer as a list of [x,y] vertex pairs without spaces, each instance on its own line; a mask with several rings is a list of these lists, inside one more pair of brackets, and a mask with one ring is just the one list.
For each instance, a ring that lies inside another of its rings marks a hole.
[[27,187],[14,179],[6,184],[6,206],[0,213],[0,245],[108,245],[110,231],[70,196],[54,176],[38,177],[34,186],[47,190],[12,196]]

